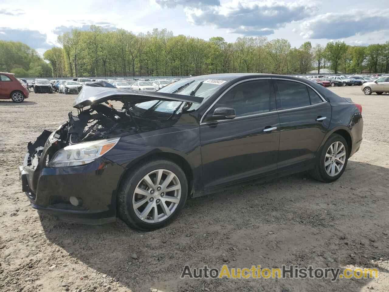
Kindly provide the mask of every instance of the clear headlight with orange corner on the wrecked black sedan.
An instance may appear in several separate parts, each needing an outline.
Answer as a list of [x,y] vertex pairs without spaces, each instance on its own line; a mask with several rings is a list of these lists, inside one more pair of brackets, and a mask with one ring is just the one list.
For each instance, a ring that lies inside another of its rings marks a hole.
[[119,139],[105,139],[66,146],[54,154],[49,167],[88,164],[114,148]]

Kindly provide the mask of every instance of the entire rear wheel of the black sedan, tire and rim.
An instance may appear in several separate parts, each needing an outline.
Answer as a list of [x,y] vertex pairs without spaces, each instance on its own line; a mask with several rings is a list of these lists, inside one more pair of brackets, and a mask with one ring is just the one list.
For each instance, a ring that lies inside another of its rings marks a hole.
[[349,146],[346,140],[338,134],[332,134],[324,143],[313,171],[312,178],[330,183],[340,178],[346,169],[349,159]]

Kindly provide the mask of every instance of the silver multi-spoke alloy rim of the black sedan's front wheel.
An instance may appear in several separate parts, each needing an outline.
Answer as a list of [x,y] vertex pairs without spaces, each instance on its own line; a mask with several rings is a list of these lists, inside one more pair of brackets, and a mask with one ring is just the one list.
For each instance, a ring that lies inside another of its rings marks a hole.
[[167,169],[146,174],[134,190],[132,207],[137,217],[147,223],[158,223],[174,213],[181,198],[177,175]]

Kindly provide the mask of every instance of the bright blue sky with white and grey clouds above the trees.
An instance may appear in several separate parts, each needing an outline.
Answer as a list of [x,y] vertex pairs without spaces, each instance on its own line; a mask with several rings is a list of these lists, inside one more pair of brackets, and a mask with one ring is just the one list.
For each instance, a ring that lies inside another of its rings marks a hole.
[[60,46],[57,37],[72,28],[99,25],[147,33],[167,28],[174,35],[208,40],[241,36],[284,38],[292,47],[303,42],[325,45],[342,40],[367,46],[389,40],[389,0],[0,0],[0,40],[24,42],[41,55]]

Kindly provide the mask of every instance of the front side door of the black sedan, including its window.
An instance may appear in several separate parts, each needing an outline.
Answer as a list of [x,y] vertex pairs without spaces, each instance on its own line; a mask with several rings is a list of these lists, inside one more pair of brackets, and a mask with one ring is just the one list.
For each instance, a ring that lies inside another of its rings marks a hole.
[[[235,109],[236,117],[207,121],[217,107]],[[204,189],[275,172],[279,137],[270,79],[235,85],[217,100],[200,125]]]

